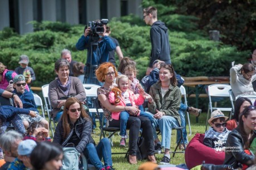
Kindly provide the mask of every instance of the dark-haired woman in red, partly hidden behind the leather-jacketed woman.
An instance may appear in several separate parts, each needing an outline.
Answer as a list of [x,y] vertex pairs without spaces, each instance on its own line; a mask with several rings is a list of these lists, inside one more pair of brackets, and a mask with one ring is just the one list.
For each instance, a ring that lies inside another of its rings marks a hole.
[[234,108],[234,115],[231,120],[227,121],[227,129],[232,131],[234,128],[238,126],[239,116],[243,112],[244,108],[247,106],[251,106],[252,101],[247,97],[239,97],[235,100],[235,108]]

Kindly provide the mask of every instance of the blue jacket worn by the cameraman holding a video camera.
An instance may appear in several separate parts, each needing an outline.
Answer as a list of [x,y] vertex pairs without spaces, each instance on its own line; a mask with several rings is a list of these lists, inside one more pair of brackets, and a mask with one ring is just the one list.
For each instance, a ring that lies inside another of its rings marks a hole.
[[[88,50],[86,64],[100,65],[101,63],[109,61],[109,52],[116,49],[115,43],[108,36],[105,36],[102,37],[102,40],[97,42],[98,48],[93,50],[90,48],[90,44],[87,44],[89,38],[89,36],[85,37],[84,35],[82,35],[76,43],[77,50]],[[86,45],[88,45],[88,48],[86,47]],[[91,50],[93,50],[92,56],[90,56]]]

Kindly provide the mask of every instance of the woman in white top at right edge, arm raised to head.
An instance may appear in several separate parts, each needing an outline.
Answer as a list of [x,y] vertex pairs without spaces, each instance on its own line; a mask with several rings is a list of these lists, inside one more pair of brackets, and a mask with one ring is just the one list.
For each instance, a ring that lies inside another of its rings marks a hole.
[[230,69],[230,85],[235,97],[238,95],[256,95],[252,82],[256,80],[252,63],[234,65]]

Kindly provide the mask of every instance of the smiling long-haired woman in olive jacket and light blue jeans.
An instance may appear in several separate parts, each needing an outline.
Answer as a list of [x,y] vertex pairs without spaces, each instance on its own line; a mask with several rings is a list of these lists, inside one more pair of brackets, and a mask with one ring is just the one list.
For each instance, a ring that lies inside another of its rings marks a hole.
[[152,99],[148,99],[149,112],[157,119],[162,136],[161,147],[165,148],[160,164],[170,163],[171,130],[181,125],[178,112],[181,92],[177,84],[173,66],[163,63],[160,65],[159,81],[152,85],[149,91],[152,96]]

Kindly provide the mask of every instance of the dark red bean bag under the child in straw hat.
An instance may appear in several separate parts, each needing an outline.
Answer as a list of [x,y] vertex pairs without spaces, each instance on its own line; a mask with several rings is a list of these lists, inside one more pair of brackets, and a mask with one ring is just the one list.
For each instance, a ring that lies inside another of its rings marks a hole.
[[217,153],[213,148],[203,143],[204,134],[196,133],[185,150],[186,166],[191,169],[199,164],[205,163],[223,164],[225,152]]

